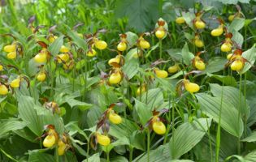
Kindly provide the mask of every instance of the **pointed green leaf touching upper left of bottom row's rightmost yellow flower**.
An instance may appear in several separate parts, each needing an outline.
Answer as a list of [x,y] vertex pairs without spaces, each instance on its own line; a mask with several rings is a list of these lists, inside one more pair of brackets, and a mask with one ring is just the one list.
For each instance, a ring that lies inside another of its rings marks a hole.
[[135,100],[135,109],[137,111],[138,116],[140,117],[140,121],[142,126],[145,126],[146,122],[150,120],[152,117],[151,109],[147,106],[147,104],[142,103],[139,100]]

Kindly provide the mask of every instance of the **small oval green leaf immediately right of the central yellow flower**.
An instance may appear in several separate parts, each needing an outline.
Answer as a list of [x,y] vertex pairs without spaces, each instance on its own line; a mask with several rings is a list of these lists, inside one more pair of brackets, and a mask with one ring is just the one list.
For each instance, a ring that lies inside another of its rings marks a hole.
[[132,77],[137,74],[138,70],[139,62],[136,58],[133,58],[126,62],[123,67],[124,75],[127,75],[128,79],[132,79]]

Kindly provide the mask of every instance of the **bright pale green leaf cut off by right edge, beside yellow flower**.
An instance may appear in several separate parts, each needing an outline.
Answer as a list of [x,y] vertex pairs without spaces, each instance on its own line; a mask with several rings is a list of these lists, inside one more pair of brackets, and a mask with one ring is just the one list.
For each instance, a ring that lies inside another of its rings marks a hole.
[[256,48],[255,45],[253,45],[252,48],[246,50],[244,53],[242,53],[242,58],[245,58],[248,62],[245,62],[244,68],[239,71],[239,74],[244,74],[251,66],[254,65],[255,59],[256,59]]

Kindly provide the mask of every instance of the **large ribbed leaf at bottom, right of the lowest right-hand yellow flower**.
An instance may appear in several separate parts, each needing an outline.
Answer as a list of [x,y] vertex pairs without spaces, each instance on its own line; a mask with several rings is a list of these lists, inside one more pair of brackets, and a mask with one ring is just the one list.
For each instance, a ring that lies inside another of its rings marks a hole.
[[172,134],[170,139],[171,159],[179,159],[201,141],[210,126],[211,119],[199,118],[192,123],[185,122]]

